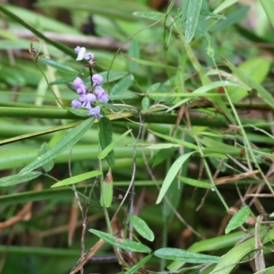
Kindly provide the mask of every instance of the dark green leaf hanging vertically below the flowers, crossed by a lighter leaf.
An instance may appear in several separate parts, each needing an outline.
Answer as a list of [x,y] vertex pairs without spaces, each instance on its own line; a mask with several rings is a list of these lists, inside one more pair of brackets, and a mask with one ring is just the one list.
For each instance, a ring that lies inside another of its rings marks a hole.
[[[112,123],[110,119],[105,116],[99,120],[99,141],[102,150],[112,143]],[[113,149],[105,156],[105,160],[108,162],[110,167],[115,166]]]

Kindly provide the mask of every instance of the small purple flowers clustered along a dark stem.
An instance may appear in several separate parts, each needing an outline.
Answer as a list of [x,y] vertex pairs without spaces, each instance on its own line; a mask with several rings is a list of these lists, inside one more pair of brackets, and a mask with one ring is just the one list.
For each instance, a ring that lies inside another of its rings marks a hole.
[[[78,53],[77,61],[88,60],[93,62],[94,55],[92,53],[86,53],[86,48],[76,47],[75,52]],[[77,93],[80,95],[79,99],[75,99],[71,102],[73,108],[86,108],[88,109],[88,115],[95,116],[96,118],[103,117],[100,114],[101,107],[100,103],[108,102],[108,94],[101,84],[103,83],[103,77],[99,74],[92,76],[92,90],[84,84],[81,78],[77,77],[73,84],[77,88]]]

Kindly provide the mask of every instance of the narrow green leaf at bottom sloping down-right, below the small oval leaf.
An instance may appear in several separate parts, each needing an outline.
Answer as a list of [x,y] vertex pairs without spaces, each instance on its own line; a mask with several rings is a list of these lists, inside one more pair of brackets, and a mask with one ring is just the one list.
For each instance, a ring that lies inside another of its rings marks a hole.
[[105,232],[101,232],[96,229],[88,229],[89,232],[95,234],[99,238],[105,240],[110,245],[114,245],[114,247],[119,247],[120,249],[124,249],[127,251],[133,252],[144,252],[144,253],[151,253],[151,249],[146,245],[142,245],[140,242],[134,242],[132,240],[116,238],[113,235],[110,235]]

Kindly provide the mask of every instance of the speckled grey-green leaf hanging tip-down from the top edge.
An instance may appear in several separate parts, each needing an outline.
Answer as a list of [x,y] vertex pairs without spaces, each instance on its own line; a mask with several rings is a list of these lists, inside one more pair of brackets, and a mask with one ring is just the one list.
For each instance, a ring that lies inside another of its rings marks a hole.
[[199,19],[202,0],[191,0],[188,4],[188,14],[186,15],[186,43],[190,43]]

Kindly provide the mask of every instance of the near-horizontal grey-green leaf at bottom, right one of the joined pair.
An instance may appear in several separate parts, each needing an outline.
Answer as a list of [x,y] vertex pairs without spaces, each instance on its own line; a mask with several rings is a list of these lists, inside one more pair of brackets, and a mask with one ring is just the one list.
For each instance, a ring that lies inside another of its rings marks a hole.
[[165,247],[158,249],[154,252],[154,255],[166,260],[177,260],[183,262],[190,262],[192,264],[216,264],[220,262],[221,258],[217,256],[211,256],[201,253],[194,253],[186,251],[184,249],[175,249]]

